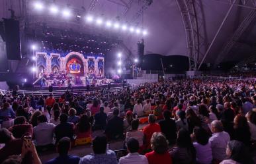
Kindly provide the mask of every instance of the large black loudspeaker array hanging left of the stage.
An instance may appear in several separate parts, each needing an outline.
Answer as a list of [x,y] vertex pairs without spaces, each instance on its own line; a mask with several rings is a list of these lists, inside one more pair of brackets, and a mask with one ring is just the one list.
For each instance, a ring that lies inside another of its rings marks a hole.
[[7,59],[21,60],[20,24],[18,20],[4,19]]

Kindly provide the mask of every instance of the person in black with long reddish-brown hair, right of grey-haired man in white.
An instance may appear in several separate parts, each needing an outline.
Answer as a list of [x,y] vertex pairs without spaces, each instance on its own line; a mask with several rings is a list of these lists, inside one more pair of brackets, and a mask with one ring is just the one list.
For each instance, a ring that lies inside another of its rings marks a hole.
[[245,146],[249,146],[251,140],[251,132],[247,119],[242,115],[237,115],[234,119],[234,140],[243,142]]

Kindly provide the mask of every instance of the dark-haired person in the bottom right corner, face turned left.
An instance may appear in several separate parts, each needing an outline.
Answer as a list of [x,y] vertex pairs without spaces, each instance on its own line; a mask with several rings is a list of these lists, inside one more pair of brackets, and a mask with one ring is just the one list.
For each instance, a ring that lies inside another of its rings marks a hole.
[[242,142],[232,140],[228,142],[225,159],[220,164],[253,164],[253,160],[249,156],[249,151]]

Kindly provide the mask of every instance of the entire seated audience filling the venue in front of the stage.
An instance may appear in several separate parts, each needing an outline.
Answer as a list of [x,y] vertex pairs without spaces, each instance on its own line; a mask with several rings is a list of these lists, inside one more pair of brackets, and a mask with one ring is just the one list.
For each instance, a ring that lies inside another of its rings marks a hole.
[[[0,106],[0,163],[41,163],[38,152],[54,148],[60,155],[47,164],[255,163],[255,81],[162,80],[60,98],[2,95]],[[95,130],[105,135],[93,138]],[[117,159],[109,140],[124,140],[128,154]],[[69,155],[84,144],[93,145],[91,155]]]

